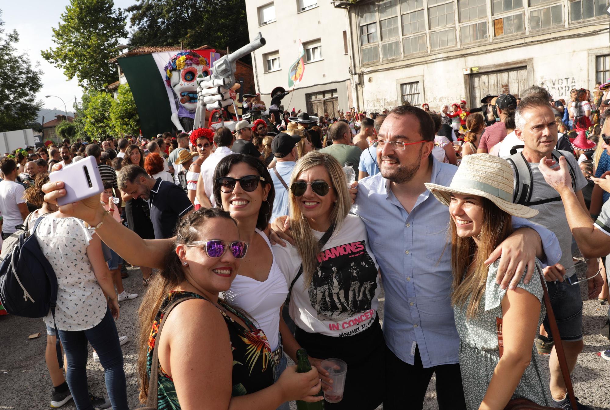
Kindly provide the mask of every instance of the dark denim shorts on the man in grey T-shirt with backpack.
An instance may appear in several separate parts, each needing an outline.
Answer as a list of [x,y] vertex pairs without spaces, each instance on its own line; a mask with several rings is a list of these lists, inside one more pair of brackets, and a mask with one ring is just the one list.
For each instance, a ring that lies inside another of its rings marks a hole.
[[[578,281],[576,274],[572,275],[570,281]],[[565,342],[583,340],[583,299],[580,295],[580,284],[570,285],[565,280],[547,282],[547,288],[561,340]],[[544,318],[544,328],[548,334],[551,334],[548,316]]]

